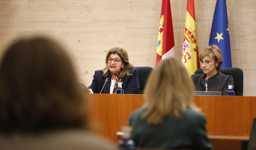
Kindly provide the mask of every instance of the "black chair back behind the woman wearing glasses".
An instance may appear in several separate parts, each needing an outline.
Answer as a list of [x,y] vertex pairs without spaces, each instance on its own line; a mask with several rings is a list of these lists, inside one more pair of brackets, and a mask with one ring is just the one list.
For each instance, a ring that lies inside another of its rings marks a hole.
[[149,77],[149,74],[151,70],[153,70],[152,67],[135,67],[135,69],[138,70],[138,80],[140,83],[140,89],[138,94],[143,94],[143,91],[145,89],[145,85],[147,82],[147,78]]

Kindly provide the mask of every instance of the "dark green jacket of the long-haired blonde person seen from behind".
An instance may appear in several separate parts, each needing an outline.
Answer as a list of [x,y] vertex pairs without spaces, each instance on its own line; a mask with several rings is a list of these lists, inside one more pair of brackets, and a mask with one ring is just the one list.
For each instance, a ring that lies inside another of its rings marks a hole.
[[205,115],[187,109],[181,118],[164,118],[161,125],[149,125],[139,109],[130,114],[132,140],[138,148],[211,150],[205,129]]

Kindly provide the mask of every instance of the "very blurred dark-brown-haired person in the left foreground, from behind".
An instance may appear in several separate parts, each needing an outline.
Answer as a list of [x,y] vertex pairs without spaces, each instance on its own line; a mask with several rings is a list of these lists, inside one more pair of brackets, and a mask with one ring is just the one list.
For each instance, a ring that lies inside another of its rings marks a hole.
[[1,149],[113,149],[92,133],[74,67],[52,40],[12,44],[1,59],[0,83]]

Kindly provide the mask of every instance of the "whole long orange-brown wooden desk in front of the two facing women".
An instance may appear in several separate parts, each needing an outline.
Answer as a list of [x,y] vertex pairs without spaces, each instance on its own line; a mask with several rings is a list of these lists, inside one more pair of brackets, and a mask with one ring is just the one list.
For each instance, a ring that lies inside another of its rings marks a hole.
[[[115,133],[128,125],[129,114],[144,104],[144,96],[139,94],[87,94],[87,97],[97,132],[112,142]],[[241,141],[249,140],[256,117],[256,97],[195,95],[194,102],[206,115],[208,137],[215,150],[221,145],[221,149],[223,146],[241,149]],[[225,146],[227,143],[229,146]]]

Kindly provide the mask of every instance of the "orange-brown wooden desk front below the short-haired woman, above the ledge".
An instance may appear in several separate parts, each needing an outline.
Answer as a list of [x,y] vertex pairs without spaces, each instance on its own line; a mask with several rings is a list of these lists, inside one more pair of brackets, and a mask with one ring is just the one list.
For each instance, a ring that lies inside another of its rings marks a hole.
[[209,133],[250,135],[256,117],[256,97],[195,95],[194,102],[206,114]]

